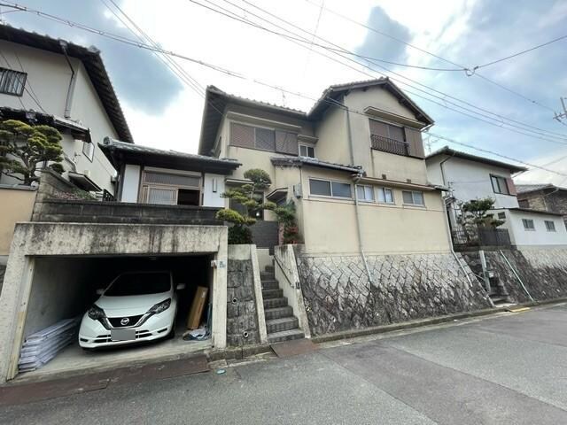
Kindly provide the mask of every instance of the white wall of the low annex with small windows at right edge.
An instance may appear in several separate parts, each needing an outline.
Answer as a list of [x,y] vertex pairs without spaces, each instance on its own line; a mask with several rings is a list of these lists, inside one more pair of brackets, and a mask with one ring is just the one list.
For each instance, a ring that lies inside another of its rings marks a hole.
[[[498,218],[498,213],[506,213],[506,222],[499,228],[508,229],[510,241],[518,247],[567,246],[567,229],[561,216],[513,210],[493,210],[493,213],[494,218]],[[535,229],[526,230],[522,219],[533,220]],[[555,223],[555,232],[548,231],[546,220]]]

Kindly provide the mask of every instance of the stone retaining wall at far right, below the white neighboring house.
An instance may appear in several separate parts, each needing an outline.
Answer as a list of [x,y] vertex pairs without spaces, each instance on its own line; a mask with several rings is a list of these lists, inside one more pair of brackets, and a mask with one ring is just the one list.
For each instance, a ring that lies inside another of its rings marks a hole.
[[[567,249],[506,250],[502,253],[534,300],[567,297]],[[462,256],[476,274],[482,273],[478,252],[463,252]],[[497,273],[513,301],[530,301],[500,251],[485,251],[485,259],[486,267]]]

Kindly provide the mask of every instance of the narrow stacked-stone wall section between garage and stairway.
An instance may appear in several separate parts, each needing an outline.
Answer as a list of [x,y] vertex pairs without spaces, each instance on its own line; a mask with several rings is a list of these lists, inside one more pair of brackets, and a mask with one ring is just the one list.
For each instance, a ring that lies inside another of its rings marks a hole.
[[229,259],[227,269],[227,344],[259,344],[258,313],[251,260]]

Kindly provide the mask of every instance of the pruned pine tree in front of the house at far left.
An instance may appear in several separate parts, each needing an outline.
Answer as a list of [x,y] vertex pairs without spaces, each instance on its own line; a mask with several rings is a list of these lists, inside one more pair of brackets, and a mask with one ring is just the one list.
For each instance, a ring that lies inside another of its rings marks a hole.
[[30,185],[39,180],[36,172],[50,162],[63,173],[61,134],[50,126],[30,126],[19,120],[0,122],[0,174]]

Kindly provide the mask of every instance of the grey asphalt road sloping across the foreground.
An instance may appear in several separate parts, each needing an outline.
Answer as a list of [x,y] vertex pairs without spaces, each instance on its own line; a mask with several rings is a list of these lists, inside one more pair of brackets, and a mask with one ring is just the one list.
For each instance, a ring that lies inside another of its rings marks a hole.
[[567,424],[567,306],[3,407],[6,424]]

